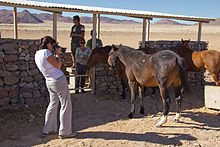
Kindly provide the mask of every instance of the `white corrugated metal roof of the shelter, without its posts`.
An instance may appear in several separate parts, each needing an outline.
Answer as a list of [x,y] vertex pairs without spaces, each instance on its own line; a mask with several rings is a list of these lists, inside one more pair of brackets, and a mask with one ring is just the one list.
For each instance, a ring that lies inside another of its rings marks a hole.
[[69,4],[57,4],[57,3],[28,1],[28,0],[0,0],[0,5],[32,8],[32,9],[45,10],[45,11],[98,13],[98,14],[109,14],[109,15],[121,15],[121,16],[136,17],[136,18],[169,18],[169,19],[201,21],[201,22],[215,21],[215,19],[213,18],[205,18],[205,17],[173,15],[167,13],[157,13],[150,11],[138,11],[138,10],[128,10],[128,9],[114,9],[114,8],[79,6],[79,5],[69,5]]

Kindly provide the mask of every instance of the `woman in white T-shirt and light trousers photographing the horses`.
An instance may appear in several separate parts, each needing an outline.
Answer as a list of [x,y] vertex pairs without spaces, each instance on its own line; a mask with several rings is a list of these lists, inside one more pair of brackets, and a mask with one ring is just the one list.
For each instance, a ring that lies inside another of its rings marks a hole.
[[[66,77],[60,70],[61,47],[55,48],[55,46],[57,46],[56,40],[50,36],[45,36],[41,38],[39,50],[35,53],[35,63],[46,79],[46,86],[50,95],[42,137],[58,131],[57,109],[60,102],[59,138],[71,138],[76,136],[72,132],[72,102]],[[53,50],[54,55],[52,54]]]

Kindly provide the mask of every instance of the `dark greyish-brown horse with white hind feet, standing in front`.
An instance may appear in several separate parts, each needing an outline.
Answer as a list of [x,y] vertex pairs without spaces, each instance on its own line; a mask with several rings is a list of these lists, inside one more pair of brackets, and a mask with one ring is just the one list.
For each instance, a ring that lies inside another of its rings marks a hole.
[[178,121],[181,116],[181,89],[187,85],[184,59],[169,50],[145,54],[126,46],[113,45],[108,58],[109,65],[114,66],[118,59],[125,65],[125,73],[131,90],[131,112],[128,115],[129,118],[133,118],[135,110],[136,86],[139,87],[140,113],[142,114],[144,114],[142,96],[144,86],[159,86],[163,100],[163,116],[156,126],[166,123],[170,107],[168,87],[173,84],[178,108],[175,121]]

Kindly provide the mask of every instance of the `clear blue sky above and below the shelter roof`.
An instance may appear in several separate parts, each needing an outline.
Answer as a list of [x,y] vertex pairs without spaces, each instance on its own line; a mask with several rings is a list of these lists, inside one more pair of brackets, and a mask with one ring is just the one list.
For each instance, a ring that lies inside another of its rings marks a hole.
[[[219,18],[220,17],[220,0],[35,0],[41,2],[50,3],[63,3],[72,5],[83,6],[96,6],[106,8],[119,8],[119,9],[132,9],[132,10],[145,10],[160,13],[169,13],[177,15],[198,16]],[[11,9],[11,7],[0,7],[0,9]],[[24,9],[18,9],[22,11]],[[32,13],[45,13],[44,11],[36,11],[28,9]],[[79,16],[92,16],[91,14],[83,13],[67,13],[64,12],[63,16],[73,16],[78,14]],[[116,19],[127,19],[142,21],[140,19],[133,19],[129,17],[109,16]],[[154,19],[157,21],[158,19]],[[191,22],[183,22],[191,23]]]

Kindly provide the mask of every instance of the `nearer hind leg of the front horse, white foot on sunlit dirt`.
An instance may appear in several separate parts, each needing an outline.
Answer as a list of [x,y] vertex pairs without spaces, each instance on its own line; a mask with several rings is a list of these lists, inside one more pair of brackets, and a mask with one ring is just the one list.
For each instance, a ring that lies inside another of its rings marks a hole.
[[170,102],[171,102],[167,88],[160,87],[160,95],[163,101],[163,116],[161,120],[156,124],[156,127],[160,127],[167,122],[167,115],[169,113]]

